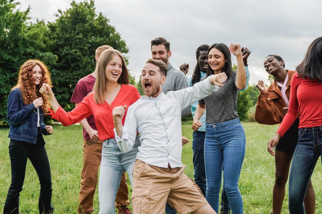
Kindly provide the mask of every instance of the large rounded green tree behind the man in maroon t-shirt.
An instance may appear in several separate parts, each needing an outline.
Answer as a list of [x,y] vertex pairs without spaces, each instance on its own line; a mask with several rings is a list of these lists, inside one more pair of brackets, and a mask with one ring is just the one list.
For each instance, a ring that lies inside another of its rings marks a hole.
[[[58,11],[55,22],[49,23],[48,44],[58,56],[52,67],[52,82],[57,100],[71,110],[74,105],[70,99],[78,80],[94,71],[95,49],[110,45],[122,53],[128,47],[109,19],[95,12],[94,1],[71,3],[71,8]],[[131,80],[135,84],[134,78]]]

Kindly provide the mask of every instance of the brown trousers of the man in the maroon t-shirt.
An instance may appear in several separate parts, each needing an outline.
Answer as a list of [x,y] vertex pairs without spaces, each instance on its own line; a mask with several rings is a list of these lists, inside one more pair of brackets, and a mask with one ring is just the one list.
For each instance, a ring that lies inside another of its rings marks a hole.
[[[93,212],[93,198],[98,182],[98,170],[102,158],[103,141],[84,140],[83,169],[81,171],[81,191],[79,196],[78,213]],[[116,195],[116,206],[128,206],[128,185],[126,175],[122,174],[118,193]]]

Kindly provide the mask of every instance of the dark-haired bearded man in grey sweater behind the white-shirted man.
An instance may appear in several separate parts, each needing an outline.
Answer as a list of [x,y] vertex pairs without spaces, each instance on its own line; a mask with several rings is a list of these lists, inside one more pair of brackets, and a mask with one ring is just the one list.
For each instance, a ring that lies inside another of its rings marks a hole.
[[[169,62],[169,57],[171,57],[170,42],[165,38],[158,37],[151,41],[151,52],[152,58],[161,60],[166,63],[167,75],[166,82],[162,85],[162,92],[168,93],[169,91],[178,91],[188,87],[187,77],[185,74],[172,67]],[[191,106],[188,106],[181,112],[181,116],[189,115],[191,112]]]

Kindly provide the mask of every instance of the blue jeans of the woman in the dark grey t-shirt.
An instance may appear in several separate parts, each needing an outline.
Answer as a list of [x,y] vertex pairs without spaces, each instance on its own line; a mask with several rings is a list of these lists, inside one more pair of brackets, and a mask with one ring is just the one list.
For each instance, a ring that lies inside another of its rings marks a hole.
[[245,156],[246,137],[240,120],[206,123],[204,163],[206,169],[206,200],[218,213],[219,192],[222,180],[234,214],[243,213],[242,195],[238,180]]

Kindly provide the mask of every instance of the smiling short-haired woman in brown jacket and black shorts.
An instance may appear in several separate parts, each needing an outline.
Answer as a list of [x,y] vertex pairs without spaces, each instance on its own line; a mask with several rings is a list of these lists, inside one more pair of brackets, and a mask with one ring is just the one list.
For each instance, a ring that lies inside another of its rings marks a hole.
[[[264,60],[267,73],[274,76],[274,81],[265,90],[262,80],[256,87],[260,90],[255,110],[255,120],[260,124],[274,125],[282,122],[289,109],[290,84],[295,71],[286,70],[280,56],[269,55]],[[289,176],[289,167],[295,147],[298,143],[297,118],[275,147],[275,183],[273,187],[273,214],[280,213],[285,196],[285,184]],[[307,214],[315,213],[315,193],[311,183],[304,199]]]

